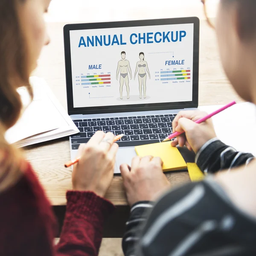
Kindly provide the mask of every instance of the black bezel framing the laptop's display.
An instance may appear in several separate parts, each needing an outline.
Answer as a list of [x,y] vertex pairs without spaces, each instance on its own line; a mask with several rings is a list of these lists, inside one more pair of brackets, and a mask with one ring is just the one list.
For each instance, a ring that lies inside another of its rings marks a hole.
[[[70,31],[71,30],[107,29],[107,28],[120,28],[120,27],[132,27],[132,26],[175,25],[175,24],[189,24],[189,23],[194,24],[192,101],[74,108],[73,82],[72,82],[72,69],[71,69],[71,49],[70,49]],[[130,20],[130,21],[114,21],[114,22],[102,22],[102,23],[79,23],[79,24],[65,25],[63,30],[64,30],[64,52],[65,52],[68,114],[73,115],[73,114],[96,114],[96,113],[120,113],[120,112],[132,112],[132,111],[157,111],[157,110],[167,110],[167,109],[197,108],[198,107],[198,74],[199,74],[199,28],[200,28],[200,21],[198,17],[168,18],[168,19],[155,19],[155,20]]]

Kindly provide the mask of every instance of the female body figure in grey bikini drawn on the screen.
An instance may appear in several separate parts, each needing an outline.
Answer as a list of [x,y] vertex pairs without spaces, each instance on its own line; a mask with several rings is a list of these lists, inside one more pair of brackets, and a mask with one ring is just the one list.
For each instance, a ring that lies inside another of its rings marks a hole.
[[150,73],[148,70],[148,63],[147,63],[147,61],[144,61],[144,53],[140,52],[139,57],[140,57],[140,61],[138,61],[137,65],[136,65],[134,80],[135,80],[136,74],[139,70],[138,79],[139,79],[140,99],[142,98],[142,86],[143,86],[143,94],[144,94],[144,99],[145,99],[147,97],[146,96],[146,80],[147,80],[146,71],[148,73],[149,79],[150,79]]

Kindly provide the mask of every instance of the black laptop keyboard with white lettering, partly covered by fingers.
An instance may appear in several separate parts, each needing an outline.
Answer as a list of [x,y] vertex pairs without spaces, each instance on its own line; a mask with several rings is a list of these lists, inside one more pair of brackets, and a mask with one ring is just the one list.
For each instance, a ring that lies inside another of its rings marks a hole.
[[73,120],[80,133],[71,136],[72,149],[87,143],[96,131],[125,134],[117,141],[119,147],[159,143],[172,133],[172,121],[177,114],[124,116]]

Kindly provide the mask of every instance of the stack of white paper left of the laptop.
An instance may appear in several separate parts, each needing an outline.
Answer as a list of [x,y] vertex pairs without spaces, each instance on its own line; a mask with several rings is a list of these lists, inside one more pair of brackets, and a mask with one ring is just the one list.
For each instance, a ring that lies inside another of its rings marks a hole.
[[31,77],[34,98],[29,104],[28,92],[18,89],[24,108],[19,121],[8,131],[5,138],[17,147],[69,136],[79,132],[72,119],[58,102],[44,79]]

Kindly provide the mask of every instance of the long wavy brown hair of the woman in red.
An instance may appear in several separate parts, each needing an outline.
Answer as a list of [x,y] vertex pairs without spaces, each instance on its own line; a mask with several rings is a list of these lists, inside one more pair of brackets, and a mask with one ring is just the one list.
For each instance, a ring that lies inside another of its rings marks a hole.
[[0,0],[0,180],[4,171],[17,171],[15,163],[20,159],[18,151],[4,139],[6,129],[20,116],[22,103],[17,88],[25,86],[32,96],[26,41],[18,15],[18,7],[25,1]]

